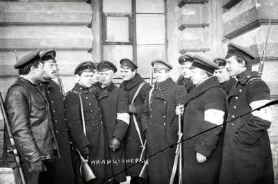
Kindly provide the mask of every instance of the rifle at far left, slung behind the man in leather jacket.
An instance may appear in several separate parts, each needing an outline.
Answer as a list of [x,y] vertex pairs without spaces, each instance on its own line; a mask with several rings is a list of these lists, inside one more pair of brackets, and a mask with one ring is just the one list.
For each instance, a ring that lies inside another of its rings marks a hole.
[[15,163],[17,165],[17,169],[19,171],[19,176],[20,179],[22,180],[22,184],[26,184],[25,178],[24,178],[24,174],[23,174],[23,170],[22,170],[22,166],[20,165],[20,159],[19,159],[19,155],[17,153],[17,147],[15,146],[15,140],[13,140],[13,135],[12,133],[10,133],[10,124],[8,124],[8,117],[6,114],[6,110],[5,110],[5,106],[4,106],[4,102],[3,102],[3,98],[2,98],[2,94],[0,92],[0,105],[1,105],[1,111],[2,111],[2,115],[3,115],[3,119],[4,119],[4,123],[6,125],[7,128],[7,133],[9,136],[9,140],[10,140],[10,145],[11,145],[11,149],[8,150],[8,153],[13,152],[13,156],[15,156]]

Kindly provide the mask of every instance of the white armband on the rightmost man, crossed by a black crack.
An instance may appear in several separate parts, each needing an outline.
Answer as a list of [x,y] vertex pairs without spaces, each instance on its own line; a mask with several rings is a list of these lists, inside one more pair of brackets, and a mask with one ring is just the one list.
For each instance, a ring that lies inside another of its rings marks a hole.
[[[270,102],[270,100],[252,101],[252,103],[250,103],[250,107],[252,108],[252,110],[254,110],[256,108],[264,106],[268,102]],[[252,112],[252,115],[256,116],[256,117],[260,117],[261,119],[264,119],[268,122],[271,122],[272,110],[271,110],[271,107],[268,106],[265,108],[261,108],[260,110],[255,110],[254,112]]]

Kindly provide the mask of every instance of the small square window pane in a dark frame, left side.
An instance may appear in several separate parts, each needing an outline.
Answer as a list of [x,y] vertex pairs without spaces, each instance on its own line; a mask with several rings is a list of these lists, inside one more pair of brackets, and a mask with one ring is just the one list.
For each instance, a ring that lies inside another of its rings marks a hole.
[[106,17],[106,42],[131,42],[129,17]]

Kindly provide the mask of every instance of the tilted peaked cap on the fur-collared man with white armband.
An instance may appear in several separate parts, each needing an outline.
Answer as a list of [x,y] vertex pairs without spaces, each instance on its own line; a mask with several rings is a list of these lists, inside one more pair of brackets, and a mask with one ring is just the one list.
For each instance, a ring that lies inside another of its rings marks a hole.
[[219,69],[218,65],[216,65],[211,60],[196,55],[194,56],[194,62],[192,63],[192,67],[204,69],[206,72],[209,72],[211,74],[214,73],[215,69]]

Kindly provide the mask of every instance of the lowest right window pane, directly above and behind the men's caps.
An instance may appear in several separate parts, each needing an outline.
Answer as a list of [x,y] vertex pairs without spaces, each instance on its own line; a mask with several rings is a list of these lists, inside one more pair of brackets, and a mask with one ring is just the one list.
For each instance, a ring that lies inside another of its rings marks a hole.
[[149,77],[151,62],[155,59],[165,60],[164,45],[138,45],[137,65],[138,73],[143,77]]

